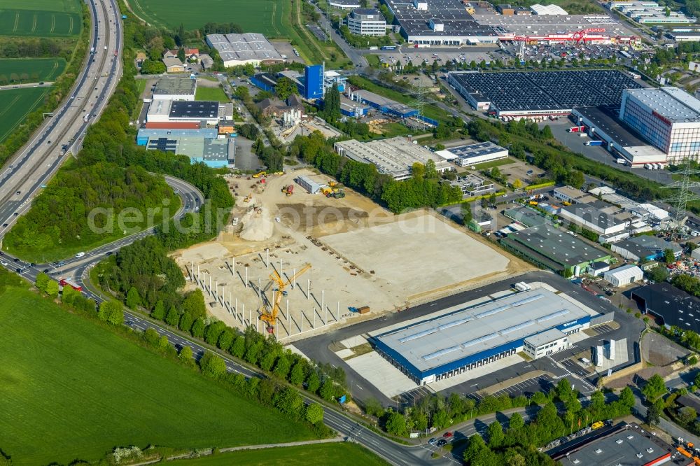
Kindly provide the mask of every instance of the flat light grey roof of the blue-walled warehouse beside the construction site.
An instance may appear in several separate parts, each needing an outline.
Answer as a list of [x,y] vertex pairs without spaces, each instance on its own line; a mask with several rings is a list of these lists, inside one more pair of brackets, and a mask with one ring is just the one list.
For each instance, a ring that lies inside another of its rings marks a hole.
[[545,288],[454,311],[375,337],[420,372],[544,332],[589,313]]

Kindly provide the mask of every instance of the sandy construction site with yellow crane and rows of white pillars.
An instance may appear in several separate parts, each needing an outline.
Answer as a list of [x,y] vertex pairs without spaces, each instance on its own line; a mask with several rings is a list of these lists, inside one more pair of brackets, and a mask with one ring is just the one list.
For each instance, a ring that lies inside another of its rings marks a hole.
[[231,222],[177,251],[211,316],[293,341],[533,269],[436,213],[395,216],[309,169],[232,176]]

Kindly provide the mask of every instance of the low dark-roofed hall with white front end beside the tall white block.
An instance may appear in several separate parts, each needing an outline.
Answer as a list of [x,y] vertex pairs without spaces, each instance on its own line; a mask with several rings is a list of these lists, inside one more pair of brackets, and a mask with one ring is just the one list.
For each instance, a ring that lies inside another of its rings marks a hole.
[[650,146],[617,118],[617,107],[581,107],[571,112],[579,125],[587,127],[594,139],[605,143],[605,148],[615,157],[623,158],[631,167],[645,164],[666,164],[666,154]]

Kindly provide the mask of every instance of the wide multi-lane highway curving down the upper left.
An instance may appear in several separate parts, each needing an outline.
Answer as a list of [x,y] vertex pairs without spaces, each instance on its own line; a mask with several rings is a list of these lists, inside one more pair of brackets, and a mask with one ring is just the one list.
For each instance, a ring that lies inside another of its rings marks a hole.
[[90,0],[93,31],[85,66],[69,97],[47,116],[29,142],[0,169],[0,240],[67,157],[80,150],[123,72],[122,28],[114,0]]

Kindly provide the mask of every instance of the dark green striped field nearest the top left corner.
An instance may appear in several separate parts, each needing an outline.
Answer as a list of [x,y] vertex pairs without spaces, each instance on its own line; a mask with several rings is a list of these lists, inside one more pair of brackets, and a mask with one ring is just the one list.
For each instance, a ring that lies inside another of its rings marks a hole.
[[81,27],[80,13],[0,9],[0,34],[4,36],[77,36]]

